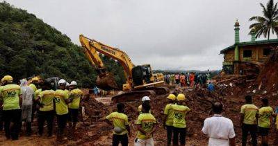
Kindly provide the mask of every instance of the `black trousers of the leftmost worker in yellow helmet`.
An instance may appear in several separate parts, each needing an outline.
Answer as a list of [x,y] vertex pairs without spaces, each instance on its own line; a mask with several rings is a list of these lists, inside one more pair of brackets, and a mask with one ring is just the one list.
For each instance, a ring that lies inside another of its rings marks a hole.
[[[21,117],[22,117],[21,109],[3,111],[4,129],[5,129],[6,138],[10,138],[11,136],[13,140],[18,139]],[[10,122],[13,122],[13,125],[11,127],[10,127]]]

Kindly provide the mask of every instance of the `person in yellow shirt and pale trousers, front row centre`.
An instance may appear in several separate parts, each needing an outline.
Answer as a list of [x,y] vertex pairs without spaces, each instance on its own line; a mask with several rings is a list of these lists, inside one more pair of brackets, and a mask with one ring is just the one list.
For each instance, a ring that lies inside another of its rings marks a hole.
[[135,139],[135,146],[154,146],[153,134],[156,131],[156,118],[149,113],[151,106],[147,102],[142,104],[142,114],[136,121],[138,133]]

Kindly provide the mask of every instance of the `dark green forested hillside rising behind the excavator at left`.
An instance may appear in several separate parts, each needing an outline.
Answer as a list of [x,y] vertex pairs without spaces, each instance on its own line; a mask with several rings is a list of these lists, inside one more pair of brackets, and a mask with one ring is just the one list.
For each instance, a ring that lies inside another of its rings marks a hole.
[[[117,84],[122,84],[122,66],[107,57],[104,63],[115,74]],[[13,75],[15,80],[57,76],[84,87],[94,86],[97,77],[83,49],[67,35],[6,2],[0,3],[0,77],[3,75]]]

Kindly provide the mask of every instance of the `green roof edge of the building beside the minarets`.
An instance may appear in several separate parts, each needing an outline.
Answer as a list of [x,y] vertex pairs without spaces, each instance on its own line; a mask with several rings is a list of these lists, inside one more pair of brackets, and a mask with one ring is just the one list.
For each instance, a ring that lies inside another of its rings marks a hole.
[[[278,43],[278,39],[266,39],[266,40],[259,40],[254,42],[240,42],[238,43],[238,46],[252,46],[252,45],[258,45],[258,44],[274,44]],[[232,50],[236,47],[236,44],[233,44],[227,48],[224,48],[220,53],[225,53],[226,51]]]

